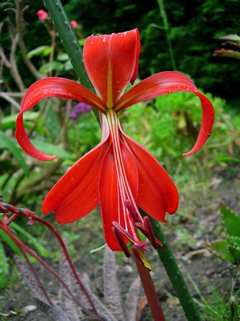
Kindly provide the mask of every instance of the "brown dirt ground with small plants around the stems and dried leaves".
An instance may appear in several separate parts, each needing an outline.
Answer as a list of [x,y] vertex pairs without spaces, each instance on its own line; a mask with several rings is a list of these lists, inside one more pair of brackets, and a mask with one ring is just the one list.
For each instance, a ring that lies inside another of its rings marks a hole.
[[[171,228],[166,229],[167,238],[175,249],[176,259],[184,278],[189,285],[190,292],[196,299],[199,299],[196,291],[190,283],[187,274],[189,274],[196,285],[201,290],[202,295],[209,300],[212,297],[213,288],[217,289],[224,297],[227,289],[230,287],[231,278],[235,276],[236,267],[215,258],[211,253],[204,249],[207,242],[220,237],[221,218],[219,215],[219,204],[224,202],[233,211],[239,214],[240,190],[239,176],[236,170],[233,175],[215,172],[209,186],[204,189],[188,191],[180,197],[180,208],[184,209],[188,215],[194,219],[178,215],[177,218],[171,220]],[[239,172],[238,172],[239,173]],[[239,174],[238,174],[239,175]],[[176,220],[176,221],[175,221]],[[183,227],[191,237],[183,240],[183,236],[179,237],[178,228]],[[176,228],[176,229],[175,229]],[[165,227],[164,227],[165,229]],[[193,241],[192,241],[193,240]],[[199,250],[198,254],[193,255],[195,250]],[[95,255],[89,255],[84,242],[77,249],[79,258],[76,266],[78,270],[85,271],[89,274],[92,287],[95,293],[102,297],[102,251]],[[87,259],[86,261],[86,258]],[[152,264],[152,278],[157,288],[157,294],[161,300],[166,320],[184,321],[186,317],[177,300],[169,298],[169,294],[176,296],[170,281],[165,273],[164,268],[159,264],[157,254],[153,251],[148,256],[148,261]],[[121,284],[121,291],[126,294],[129,284],[136,277],[136,267],[132,259],[121,258],[117,260],[118,278]],[[59,295],[59,287],[51,276],[47,276],[42,268],[38,270],[50,296],[57,302]],[[238,284],[239,285],[239,284]],[[237,284],[236,284],[237,286]],[[140,296],[144,294],[141,292]],[[12,287],[8,287],[0,293],[1,312],[7,313],[9,310],[18,311],[26,305],[34,304],[31,299],[31,293],[20,277],[16,279]],[[12,320],[49,320],[49,318],[40,310],[35,310],[22,315],[11,316]],[[143,309],[141,320],[151,320],[148,306]]]

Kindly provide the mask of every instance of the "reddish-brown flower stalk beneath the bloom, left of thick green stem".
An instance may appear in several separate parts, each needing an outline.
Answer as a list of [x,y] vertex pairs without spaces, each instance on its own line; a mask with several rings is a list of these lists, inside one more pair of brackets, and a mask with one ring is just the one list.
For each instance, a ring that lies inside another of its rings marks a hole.
[[142,266],[138,259],[135,258],[135,262],[154,320],[165,321],[164,313],[158,301],[150,272]]

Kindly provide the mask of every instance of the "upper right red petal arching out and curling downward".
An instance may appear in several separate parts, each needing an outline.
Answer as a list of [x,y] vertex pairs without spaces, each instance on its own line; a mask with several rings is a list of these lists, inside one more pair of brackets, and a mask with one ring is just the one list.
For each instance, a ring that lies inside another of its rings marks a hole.
[[214,109],[209,99],[201,94],[193,82],[183,74],[177,72],[162,72],[142,80],[116,102],[114,110],[120,111],[136,103],[175,91],[193,92],[200,98],[202,104],[203,116],[201,129],[194,147],[188,153],[183,154],[187,156],[201,148],[211,135]]

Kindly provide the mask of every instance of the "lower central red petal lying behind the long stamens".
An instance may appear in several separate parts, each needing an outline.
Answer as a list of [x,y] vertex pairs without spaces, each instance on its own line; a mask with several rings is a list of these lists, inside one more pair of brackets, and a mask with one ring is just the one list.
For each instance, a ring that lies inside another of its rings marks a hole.
[[[125,168],[126,177],[134,199],[138,194],[138,173],[136,163],[128,148],[121,142],[122,157]],[[112,221],[121,224],[122,227],[130,231],[129,219],[126,218],[127,209],[124,204],[124,195],[117,181],[117,168],[114,160],[112,144],[109,146],[102,162],[100,178],[99,178],[99,197],[102,212],[103,231],[107,245],[113,251],[122,251],[115,236],[112,232]],[[126,227],[127,225],[127,227]],[[128,240],[124,238],[127,244]]]

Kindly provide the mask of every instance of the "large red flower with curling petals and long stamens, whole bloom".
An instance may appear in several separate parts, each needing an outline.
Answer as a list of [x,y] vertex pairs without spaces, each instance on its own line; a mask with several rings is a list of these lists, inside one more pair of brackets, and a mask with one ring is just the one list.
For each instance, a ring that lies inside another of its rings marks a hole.
[[[118,112],[138,102],[175,91],[189,91],[199,97],[203,118],[195,146],[190,155],[211,134],[214,109],[186,76],[178,72],[155,74],[129,91],[138,74],[140,38],[137,29],[125,33],[91,36],[84,47],[84,63],[97,95],[84,86],[63,78],[46,78],[35,82],[26,92],[16,124],[16,138],[31,156],[50,161],[57,156],[39,152],[29,141],[23,126],[23,113],[46,97],[73,99],[100,112],[102,140],[79,159],[51,189],[43,203],[43,212],[53,210],[59,223],[70,223],[90,213],[99,203],[106,242],[112,250],[133,252],[144,262],[141,242],[135,227],[154,247],[155,239],[148,218],[142,219],[137,205],[158,221],[165,222],[166,212],[178,208],[178,191],[165,169],[141,145],[127,136]],[[147,265],[146,262],[144,262]]]

